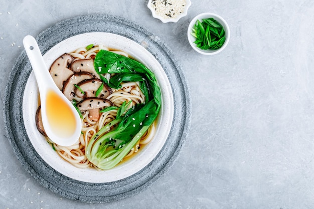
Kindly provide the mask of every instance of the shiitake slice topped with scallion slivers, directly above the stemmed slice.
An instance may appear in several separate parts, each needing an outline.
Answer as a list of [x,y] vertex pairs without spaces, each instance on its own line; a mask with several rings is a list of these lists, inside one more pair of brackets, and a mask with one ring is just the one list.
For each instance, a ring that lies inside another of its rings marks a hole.
[[[78,97],[95,97],[96,91],[99,89],[102,83],[103,83],[102,80],[97,78],[81,81],[80,83],[77,84],[80,87],[80,89],[76,88],[75,94]],[[84,92],[84,94],[81,92],[81,90]],[[97,96],[101,98],[106,98],[111,93],[112,93],[111,88],[104,83],[101,92]]]

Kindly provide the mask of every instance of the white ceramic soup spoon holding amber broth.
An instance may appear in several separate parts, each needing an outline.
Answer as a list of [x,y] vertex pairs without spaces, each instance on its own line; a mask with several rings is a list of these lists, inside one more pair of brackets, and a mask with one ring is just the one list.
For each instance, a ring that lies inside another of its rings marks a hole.
[[81,134],[80,116],[53,81],[34,37],[26,36],[23,45],[37,80],[45,132],[56,144],[73,145]]

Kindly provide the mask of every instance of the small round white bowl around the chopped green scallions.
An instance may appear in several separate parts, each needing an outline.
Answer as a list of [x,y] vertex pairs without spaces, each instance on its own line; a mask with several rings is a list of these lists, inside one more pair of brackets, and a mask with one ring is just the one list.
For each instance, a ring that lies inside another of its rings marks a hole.
[[[214,18],[216,21],[218,21],[223,26],[223,28],[225,30],[225,36],[226,36],[225,43],[221,46],[221,48],[219,48],[217,50],[210,50],[210,49],[209,50],[202,50],[202,49],[198,48],[196,46],[196,44],[194,43],[196,38],[194,36],[192,36],[192,34],[191,34],[192,28],[196,24],[197,20],[202,22],[203,19],[208,19],[208,18]],[[229,29],[227,22],[222,17],[220,17],[219,15],[216,15],[213,13],[202,13],[202,14],[197,15],[191,21],[189,28],[188,28],[188,40],[189,40],[189,43],[192,46],[192,48],[195,51],[197,51],[198,53],[203,54],[203,55],[215,55],[215,54],[221,52],[222,50],[224,50],[226,48],[226,46],[228,45],[228,42],[230,40],[230,29]]]

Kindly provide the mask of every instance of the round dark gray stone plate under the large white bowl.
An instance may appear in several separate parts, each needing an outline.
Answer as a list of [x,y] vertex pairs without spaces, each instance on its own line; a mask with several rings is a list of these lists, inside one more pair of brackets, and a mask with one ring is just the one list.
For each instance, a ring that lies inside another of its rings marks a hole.
[[23,51],[9,77],[4,101],[4,120],[13,151],[24,168],[39,183],[59,195],[85,202],[109,202],[137,194],[159,179],[174,163],[188,136],[191,123],[189,85],[176,56],[154,34],[142,26],[109,15],[79,16],[64,20],[38,35],[43,54],[57,43],[83,33],[107,32],[135,41],[145,47],[162,65],[174,96],[174,120],[160,153],[137,173],[113,182],[89,183],[69,178],[50,167],[32,146],[25,130],[21,104],[32,71]]

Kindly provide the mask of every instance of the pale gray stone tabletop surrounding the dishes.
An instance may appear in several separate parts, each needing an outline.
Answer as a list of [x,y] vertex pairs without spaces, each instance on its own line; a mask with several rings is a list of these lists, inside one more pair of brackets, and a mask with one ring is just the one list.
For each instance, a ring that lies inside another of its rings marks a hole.
[[[78,15],[108,14],[166,43],[183,66],[193,106],[189,137],[168,172],[133,197],[103,204],[62,198],[34,180],[0,120],[0,208],[314,208],[314,2],[192,0],[186,17],[167,24],[152,18],[147,2],[0,3],[2,101],[26,35]],[[231,30],[215,56],[188,43],[189,22],[203,12],[222,16]]]

